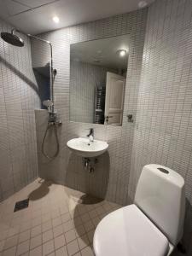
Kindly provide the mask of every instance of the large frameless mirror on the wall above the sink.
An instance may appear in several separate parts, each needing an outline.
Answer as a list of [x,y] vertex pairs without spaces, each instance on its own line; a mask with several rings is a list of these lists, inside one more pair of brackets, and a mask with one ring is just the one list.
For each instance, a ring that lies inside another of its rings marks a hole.
[[70,120],[122,125],[129,35],[70,46]]

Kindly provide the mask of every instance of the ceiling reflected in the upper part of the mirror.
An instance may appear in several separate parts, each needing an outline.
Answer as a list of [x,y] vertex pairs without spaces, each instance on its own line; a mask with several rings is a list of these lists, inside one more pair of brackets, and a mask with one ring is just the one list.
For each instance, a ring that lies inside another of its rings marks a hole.
[[[102,38],[70,45],[70,58],[102,67],[126,69],[129,52],[129,35]],[[127,54],[120,57],[117,51],[125,49]]]

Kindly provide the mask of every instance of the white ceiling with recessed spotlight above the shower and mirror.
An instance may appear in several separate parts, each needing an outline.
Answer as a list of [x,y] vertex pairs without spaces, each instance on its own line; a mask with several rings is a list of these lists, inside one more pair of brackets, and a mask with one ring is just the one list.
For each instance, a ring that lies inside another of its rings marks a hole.
[[[154,0],[145,0],[150,4]],[[141,0],[0,0],[0,17],[22,32],[38,34],[138,9]],[[55,24],[52,17],[60,22]]]

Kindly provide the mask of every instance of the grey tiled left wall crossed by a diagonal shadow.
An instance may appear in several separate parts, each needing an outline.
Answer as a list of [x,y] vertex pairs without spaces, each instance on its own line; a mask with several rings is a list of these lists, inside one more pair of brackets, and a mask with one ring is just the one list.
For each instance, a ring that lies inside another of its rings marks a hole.
[[[0,31],[11,27],[0,20]],[[34,108],[38,87],[29,39],[22,48],[0,38],[0,201],[38,176]]]

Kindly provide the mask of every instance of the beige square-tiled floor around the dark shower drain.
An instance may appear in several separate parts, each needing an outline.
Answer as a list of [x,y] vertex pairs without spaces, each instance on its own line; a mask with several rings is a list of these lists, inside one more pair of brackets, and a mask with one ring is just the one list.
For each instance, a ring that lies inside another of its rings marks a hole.
[[[30,198],[14,212],[15,202]],[[83,193],[37,179],[0,204],[0,256],[90,256],[94,230],[119,208]]]

